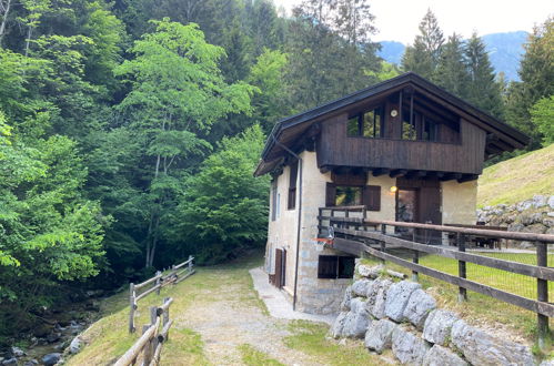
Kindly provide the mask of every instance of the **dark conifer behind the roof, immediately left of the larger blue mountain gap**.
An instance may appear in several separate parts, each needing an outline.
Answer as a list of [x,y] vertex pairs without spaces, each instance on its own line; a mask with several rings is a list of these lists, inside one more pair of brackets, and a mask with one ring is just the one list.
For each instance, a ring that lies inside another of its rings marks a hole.
[[496,118],[503,118],[502,81],[496,82],[494,68],[488,60],[485,44],[476,33],[472,34],[465,45],[465,62],[470,74],[465,99],[483,111]]

